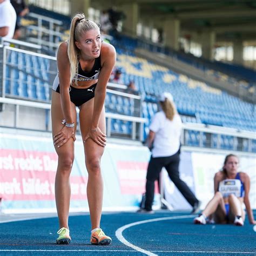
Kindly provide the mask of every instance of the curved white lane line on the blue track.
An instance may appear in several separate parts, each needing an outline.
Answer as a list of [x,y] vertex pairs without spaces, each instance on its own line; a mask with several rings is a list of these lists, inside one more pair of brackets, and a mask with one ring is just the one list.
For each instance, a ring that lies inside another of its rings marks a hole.
[[150,223],[150,222],[154,222],[154,221],[161,221],[161,220],[172,220],[172,219],[186,219],[186,218],[194,218],[194,215],[181,215],[181,216],[173,216],[173,217],[163,217],[163,218],[156,218],[156,219],[149,219],[149,220],[142,220],[142,221],[137,221],[134,223],[130,223],[127,225],[124,225],[122,227],[119,227],[118,230],[116,231],[116,237],[120,242],[123,242],[123,244],[133,248],[136,251],[145,253],[146,255],[150,255],[150,256],[157,256],[157,254],[154,254],[150,251],[146,251],[143,250],[142,248],[131,244],[129,241],[127,241],[124,237],[123,237],[123,231],[126,230],[127,228],[130,228],[132,226],[136,226],[136,225],[140,225],[140,224],[145,224],[145,223]]

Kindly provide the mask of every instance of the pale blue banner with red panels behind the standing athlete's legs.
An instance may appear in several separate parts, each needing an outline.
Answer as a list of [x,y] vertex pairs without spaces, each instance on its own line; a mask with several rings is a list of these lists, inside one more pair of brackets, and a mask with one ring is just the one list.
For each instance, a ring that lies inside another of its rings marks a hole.
[[[149,151],[143,146],[107,144],[102,158],[105,210],[134,209],[145,192]],[[52,212],[58,156],[48,137],[0,134],[2,212]],[[71,211],[89,211],[82,140],[75,143],[70,176]]]

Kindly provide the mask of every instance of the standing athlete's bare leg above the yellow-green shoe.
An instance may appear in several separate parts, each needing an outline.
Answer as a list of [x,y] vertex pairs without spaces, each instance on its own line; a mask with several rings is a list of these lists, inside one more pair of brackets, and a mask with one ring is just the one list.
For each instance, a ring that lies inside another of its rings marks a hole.
[[[76,108],[72,107],[73,119],[76,120]],[[60,95],[58,92],[52,91],[52,105],[51,105],[51,118],[52,118],[52,134],[56,134],[63,128],[62,107],[60,105]],[[69,218],[69,205],[70,205],[70,182],[69,177],[74,160],[74,142],[70,138],[61,147],[56,147],[55,150],[58,154],[58,167],[55,178],[55,199],[56,207],[59,218],[59,228],[68,227]]]

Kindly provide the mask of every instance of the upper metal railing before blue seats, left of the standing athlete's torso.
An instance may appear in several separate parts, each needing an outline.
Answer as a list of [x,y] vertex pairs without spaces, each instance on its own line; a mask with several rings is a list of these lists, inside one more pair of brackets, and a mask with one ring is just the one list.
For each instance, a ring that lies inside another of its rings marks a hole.
[[[3,46],[0,51],[3,56],[0,96],[49,101],[51,85],[57,73],[56,57],[10,46]],[[37,95],[41,87],[44,87],[45,99]],[[23,93],[23,89],[30,94]]]

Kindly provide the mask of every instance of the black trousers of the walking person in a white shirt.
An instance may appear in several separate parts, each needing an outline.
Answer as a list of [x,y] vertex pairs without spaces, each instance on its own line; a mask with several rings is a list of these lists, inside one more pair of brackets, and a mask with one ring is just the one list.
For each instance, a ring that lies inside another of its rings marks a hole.
[[174,185],[178,188],[181,194],[185,197],[188,203],[193,207],[195,203],[198,203],[198,199],[194,196],[187,184],[179,177],[179,161],[180,152],[170,157],[152,157],[147,167],[147,181],[146,181],[146,200],[145,209],[152,210],[152,204],[154,200],[154,181],[159,177],[159,174],[163,167],[165,167],[170,179]]

